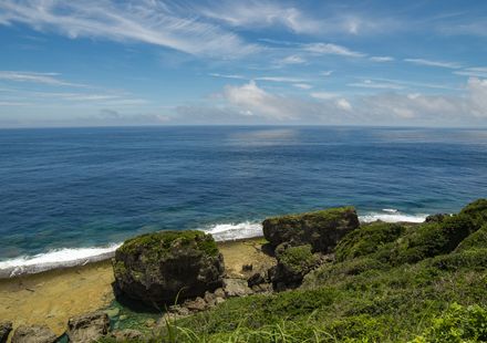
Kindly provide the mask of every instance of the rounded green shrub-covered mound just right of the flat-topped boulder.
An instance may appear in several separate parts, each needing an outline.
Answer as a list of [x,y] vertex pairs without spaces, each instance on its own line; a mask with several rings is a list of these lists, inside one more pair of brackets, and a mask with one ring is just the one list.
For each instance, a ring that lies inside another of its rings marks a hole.
[[395,241],[405,227],[398,224],[374,222],[346,235],[335,248],[338,261],[354,259],[376,252],[385,243]]

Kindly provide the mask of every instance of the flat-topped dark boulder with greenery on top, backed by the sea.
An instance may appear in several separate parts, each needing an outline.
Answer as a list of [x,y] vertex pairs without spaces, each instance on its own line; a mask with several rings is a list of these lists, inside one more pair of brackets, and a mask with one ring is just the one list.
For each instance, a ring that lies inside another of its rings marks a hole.
[[313,252],[323,253],[331,252],[343,236],[359,226],[353,207],[269,218],[262,222],[263,236],[272,247],[283,242],[311,245]]

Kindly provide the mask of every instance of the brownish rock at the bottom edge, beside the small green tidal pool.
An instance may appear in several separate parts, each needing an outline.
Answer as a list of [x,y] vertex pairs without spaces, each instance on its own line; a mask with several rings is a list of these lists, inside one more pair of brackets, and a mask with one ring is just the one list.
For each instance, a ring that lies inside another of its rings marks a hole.
[[68,336],[70,342],[89,343],[107,334],[110,319],[106,313],[92,312],[73,316],[68,321]]

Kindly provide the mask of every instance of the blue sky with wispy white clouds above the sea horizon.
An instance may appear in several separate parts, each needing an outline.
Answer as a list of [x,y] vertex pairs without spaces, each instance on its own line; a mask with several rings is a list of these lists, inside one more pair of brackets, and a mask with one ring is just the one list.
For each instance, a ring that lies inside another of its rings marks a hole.
[[487,1],[0,0],[0,127],[487,126]]

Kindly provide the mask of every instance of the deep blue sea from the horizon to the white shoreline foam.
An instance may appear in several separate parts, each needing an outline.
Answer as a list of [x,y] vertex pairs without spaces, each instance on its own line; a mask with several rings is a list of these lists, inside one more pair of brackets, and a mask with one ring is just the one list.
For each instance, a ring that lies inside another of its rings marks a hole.
[[85,262],[124,239],[261,235],[268,216],[354,205],[423,221],[487,197],[487,131],[124,127],[0,131],[0,274]]

